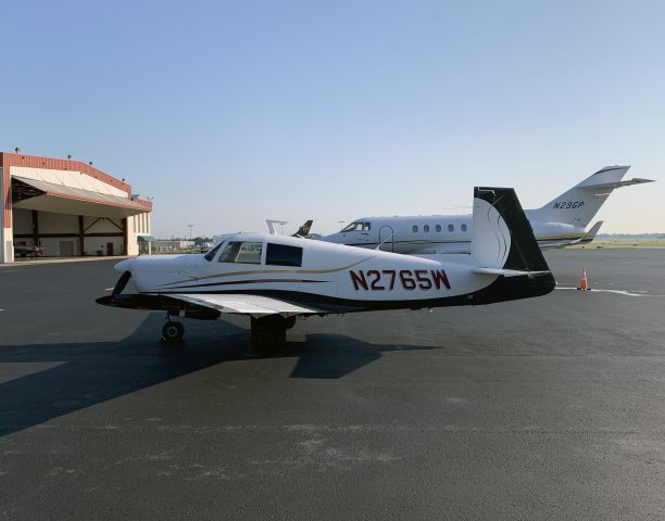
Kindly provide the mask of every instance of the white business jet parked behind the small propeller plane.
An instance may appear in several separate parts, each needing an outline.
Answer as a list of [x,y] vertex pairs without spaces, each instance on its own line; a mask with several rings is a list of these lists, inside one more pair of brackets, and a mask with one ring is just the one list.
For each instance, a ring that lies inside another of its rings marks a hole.
[[[622,181],[628,168],[606,166],[541,208],[527,209],[526,216],[540,247],[591,242],[602,221],[589,231],[586,228],[614,189],[652,182],[641,178]],[[363,217],[323,240],[396,253],[468,253],[472,221],[470,215]]]

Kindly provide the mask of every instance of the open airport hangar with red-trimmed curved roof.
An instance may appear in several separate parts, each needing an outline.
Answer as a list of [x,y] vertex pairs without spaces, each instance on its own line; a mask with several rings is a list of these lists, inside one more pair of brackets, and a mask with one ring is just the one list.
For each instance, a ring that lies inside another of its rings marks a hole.
[[0,263],[14,245],[43,256],[150,253],[152,203],[92,164],[0,152]]

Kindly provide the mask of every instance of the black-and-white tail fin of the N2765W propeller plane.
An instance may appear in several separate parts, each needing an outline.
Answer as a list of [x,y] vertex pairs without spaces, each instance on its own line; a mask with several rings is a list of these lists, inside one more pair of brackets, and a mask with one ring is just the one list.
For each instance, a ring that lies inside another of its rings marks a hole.
[[470,254],[475,274],[499,276],[475,304],[550,293],[554,277],[512,188],[476,187]]

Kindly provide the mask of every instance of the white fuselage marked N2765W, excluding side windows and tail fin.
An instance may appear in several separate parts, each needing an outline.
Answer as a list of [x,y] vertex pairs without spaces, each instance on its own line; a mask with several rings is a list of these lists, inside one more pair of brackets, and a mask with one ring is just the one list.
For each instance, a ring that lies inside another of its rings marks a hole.
[[[284,295],[296,292],[357,305],[359,310],[389,301],[415,305],[418,301],[464,295],[497,279],[497,276],[474,274],[472,269],[477,263],[469,255],[405,256],[253,233],[231,236],[225,243],[234,241],[255,244],[261,250],[261,259],[255,264],[219,262],[221,251],[208,258],[206,255],[151,255],[123,260],[115,269],[130,271],[139,293]],[[302,249],[302,266],[267,264],[267,243]]]

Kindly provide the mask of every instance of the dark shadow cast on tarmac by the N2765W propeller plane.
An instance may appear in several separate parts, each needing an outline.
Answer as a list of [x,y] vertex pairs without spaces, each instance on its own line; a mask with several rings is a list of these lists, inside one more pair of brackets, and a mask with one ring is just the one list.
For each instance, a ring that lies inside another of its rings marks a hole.
[[[155,339],[162,323],[161,314],[151,314],[120,342],[0,346],[0,364],[58,364],[0,383],[0,436],[217,364],[252,358],[249,331],[238,326],[208,322],[202,335],[164,347]],[[276,357],[299,357],[289,378],[338,379],[386,352],[436,348],[313,334],[306,343],[287,342]]]

